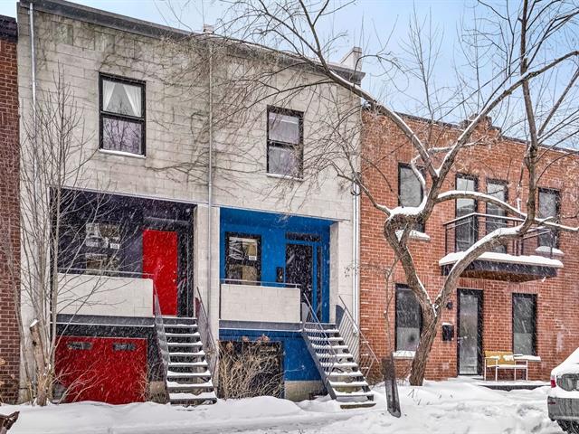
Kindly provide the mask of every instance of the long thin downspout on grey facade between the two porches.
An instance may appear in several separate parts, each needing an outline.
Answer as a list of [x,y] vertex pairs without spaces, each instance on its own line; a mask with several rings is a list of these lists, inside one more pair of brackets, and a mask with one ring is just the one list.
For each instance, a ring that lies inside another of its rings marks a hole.
[[[213,27],[204,25],[204,33],[213,33]],[[207,219],[207,317],[212,316],[211,287],[212,287],[212,217],[214,201],[214,49],[213,42],[209,40],[209,156],[207,167],[207,209],[209,217]]]

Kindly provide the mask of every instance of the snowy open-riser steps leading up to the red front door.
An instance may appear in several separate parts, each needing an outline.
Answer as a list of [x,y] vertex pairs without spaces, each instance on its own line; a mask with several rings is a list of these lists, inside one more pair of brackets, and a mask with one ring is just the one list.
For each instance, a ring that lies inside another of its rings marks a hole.
[[172,405],[214,404],[211,372],[195,318],[164,316],[169,363],[166,389]]

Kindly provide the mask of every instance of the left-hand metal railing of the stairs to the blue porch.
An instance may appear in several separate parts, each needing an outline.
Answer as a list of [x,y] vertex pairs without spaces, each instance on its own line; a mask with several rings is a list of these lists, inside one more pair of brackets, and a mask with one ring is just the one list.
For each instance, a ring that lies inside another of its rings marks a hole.
[[[329,336],[327,335],[326,329],[323,327],[323,325],[321,325],[320,321],[318,320],[318,316],[316,316],[316,313],[314,312],[307,298],[303,299],[302,307],[303,315],[301,322],[301,333],[304,336],[306,343],[308,344],[308,350],[314,358],[316,366],[318,366],[318,372],[322,377],[326,391],[330,394],[332,399],[335,400],[336,393],[330,384],[329,375],[330,373],[334,373],[335,365],[337,363],[336,350],[332,347],[332,344],[328,339]],[[306,330],[308,330],[308,332]],[[311,341],[309,339],[310,337],[319,337],[323,338],[323,340]],[[319,345],[328,345],[326,351],[319,350],[318,352],[313,347],[313,345],[316,343]]]

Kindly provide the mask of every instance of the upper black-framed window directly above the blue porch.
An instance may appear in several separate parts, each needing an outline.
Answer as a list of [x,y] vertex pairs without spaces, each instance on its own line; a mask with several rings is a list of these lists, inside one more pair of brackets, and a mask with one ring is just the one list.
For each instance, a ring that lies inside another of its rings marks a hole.
[[303,114],[268,108],[268,174],[301,178],[303,159]]

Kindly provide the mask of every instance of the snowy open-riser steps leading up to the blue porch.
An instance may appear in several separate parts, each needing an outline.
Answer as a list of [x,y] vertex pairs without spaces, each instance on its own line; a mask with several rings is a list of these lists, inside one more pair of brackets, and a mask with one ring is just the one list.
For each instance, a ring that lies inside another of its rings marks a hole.
[[341,408],[375,405],[374,392],[336,325],[306,322],[301,333],[327,392]]

